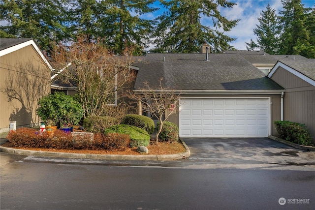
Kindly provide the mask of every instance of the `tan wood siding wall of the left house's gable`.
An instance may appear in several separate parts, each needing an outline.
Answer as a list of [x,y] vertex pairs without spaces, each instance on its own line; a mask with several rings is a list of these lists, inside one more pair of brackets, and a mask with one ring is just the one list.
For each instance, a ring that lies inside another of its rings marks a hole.
[[[40,93],[36,97],[50,93],[50,70],[48,66],[31,45],[1,56],[0,62],[0,132],[9,129],[9,121],[11,120],[16,121],[17,126],[38,123],[39,119],[35,115],[37,98],[32,97],[29,100],[27,97],[30,96],[23,91],[27,89],[32,90],[33,93],[35,87],[27,87],[30,84],[25,84],[25,81],[37,78],[35,80],[41,81],[41,87]],[[20,99],[10,97],[3,92],[6,87],[10,86],[9,78],[21,78],[14,80],[18,82],[13,84],[14,89],[21,93]],[[32,111],[30,111],[31,109]]]

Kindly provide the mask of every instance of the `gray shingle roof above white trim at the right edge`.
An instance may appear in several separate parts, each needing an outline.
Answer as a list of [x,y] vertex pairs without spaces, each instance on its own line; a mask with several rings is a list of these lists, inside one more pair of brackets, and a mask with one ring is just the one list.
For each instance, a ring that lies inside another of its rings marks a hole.
[[315,59],[306,60],[291,59],[283,60],[281,62],[315,81]]

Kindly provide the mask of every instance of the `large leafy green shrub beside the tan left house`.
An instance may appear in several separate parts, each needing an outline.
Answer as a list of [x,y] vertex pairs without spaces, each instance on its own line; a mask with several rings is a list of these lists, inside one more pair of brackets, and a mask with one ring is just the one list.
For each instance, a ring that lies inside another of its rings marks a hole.
[[84,115],[82,105],[72,96],[54,92],[38,101],[37,115],[41,120],[54,120],[60,126],[77,125]]

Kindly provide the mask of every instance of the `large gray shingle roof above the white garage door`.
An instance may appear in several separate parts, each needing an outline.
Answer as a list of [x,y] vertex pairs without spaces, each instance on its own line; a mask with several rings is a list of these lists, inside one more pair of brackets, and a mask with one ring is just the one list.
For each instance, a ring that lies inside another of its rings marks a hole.
[[[164,61],[165,58],[165,61]],[[139,67],[135,89],[147,81],[174,90],[282,90],[283,88],[238,54],[147,54]]]

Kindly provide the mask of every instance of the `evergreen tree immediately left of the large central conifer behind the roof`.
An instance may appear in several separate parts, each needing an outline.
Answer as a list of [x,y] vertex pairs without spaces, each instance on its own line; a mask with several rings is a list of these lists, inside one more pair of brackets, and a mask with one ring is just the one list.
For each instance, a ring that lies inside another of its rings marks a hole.
[[135,55],[144,53],[153,37],[156,21],[140,18],[140,15],[156,11],[158,8],[150,6],[153,2],[154,0],[103,1],[107,9],[101,28],[107,46],[115,54],[121,55],[129,47],[134,48]]

